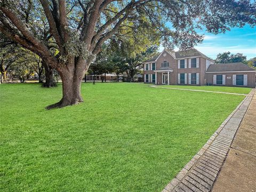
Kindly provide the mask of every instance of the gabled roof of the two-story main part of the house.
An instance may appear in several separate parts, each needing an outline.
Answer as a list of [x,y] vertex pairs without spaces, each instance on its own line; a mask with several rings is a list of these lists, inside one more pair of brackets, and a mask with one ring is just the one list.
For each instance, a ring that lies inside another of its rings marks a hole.
[[[182,58],[189,58],[189,57],[204,57],[206,59],[210,59],[211,58],[207,57],[205,54],[201,53],[200,51],[192,48],[192,49],[187,49],[187,50],[183,50],[183,51],[177,51],[177,52],[173,52],[170,53],[169,51],[165,50],[167,53],[169,53],[170,55],[172,55],[172,57],[174,59],[182,59]],[[162,52],[163,53],[163,52]],[[158,54],[156,57],[152,58],[152,59],[148,59],[145,62],[154,62],[157,60],[157,58],[159,57],[159,55],[161,55],[162,53]]]

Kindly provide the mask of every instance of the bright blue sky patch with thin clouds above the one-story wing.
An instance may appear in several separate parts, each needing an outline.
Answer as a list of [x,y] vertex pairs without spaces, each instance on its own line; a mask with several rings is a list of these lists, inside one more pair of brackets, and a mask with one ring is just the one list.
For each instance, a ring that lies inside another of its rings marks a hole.
[[[243,28],[231,28],[225,34],[214,35],[205,31],[198,31],[198,33],[204,34],[205,38],[203,43],[195,48],[212,59],[216,59],[218,53],[227,51],[232,54],[243,53],[247,59],[256,57],[256,28],[246,25]],[[162,50],[163,47],[160,47],[160,51]]]

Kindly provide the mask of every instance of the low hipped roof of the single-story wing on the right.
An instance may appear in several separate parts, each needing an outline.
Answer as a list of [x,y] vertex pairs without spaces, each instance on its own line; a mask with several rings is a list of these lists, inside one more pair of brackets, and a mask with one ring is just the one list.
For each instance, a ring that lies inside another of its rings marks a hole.
[[219,63],[219,64],[212,64],[206,70],[207,72],[225,72],[225,71],[255,71],[255,69],[245,65],[242,62],[235,62],[235,63]]

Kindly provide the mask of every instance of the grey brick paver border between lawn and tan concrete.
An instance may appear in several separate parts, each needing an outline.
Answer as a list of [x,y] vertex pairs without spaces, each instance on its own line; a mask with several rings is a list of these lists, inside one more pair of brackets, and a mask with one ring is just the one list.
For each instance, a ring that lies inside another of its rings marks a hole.
[[[206,142],[201,150],[183,167],[162,192],[208,192],[212,190],[229,153],[238,127],[252,101],[255,89],[237,106]],[[251,118],[255,116],[251,115]],[[231,165],[234,166],[234,165]],[[242,175],[241,175],[242,176]],[[243,175],[246,177],[246,175]],[[248,178],[253,180],[252,178]],[[230,180],[230,178],[229,178]],[[224,191],[224,190],[216,190]],[[236,190],[237,191],[237,190]]]

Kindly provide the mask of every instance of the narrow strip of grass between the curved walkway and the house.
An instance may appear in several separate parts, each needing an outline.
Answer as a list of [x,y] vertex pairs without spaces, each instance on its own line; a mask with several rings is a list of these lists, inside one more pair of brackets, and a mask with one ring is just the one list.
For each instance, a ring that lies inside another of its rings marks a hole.
[[204,91],[219,91],[226,93],[241,93],[248,94],[251,88],[248,87],[228,87],[228,86],[193,86],[193,85],[157,85],[159,87],[170,87],[176,89],[204,90]]

